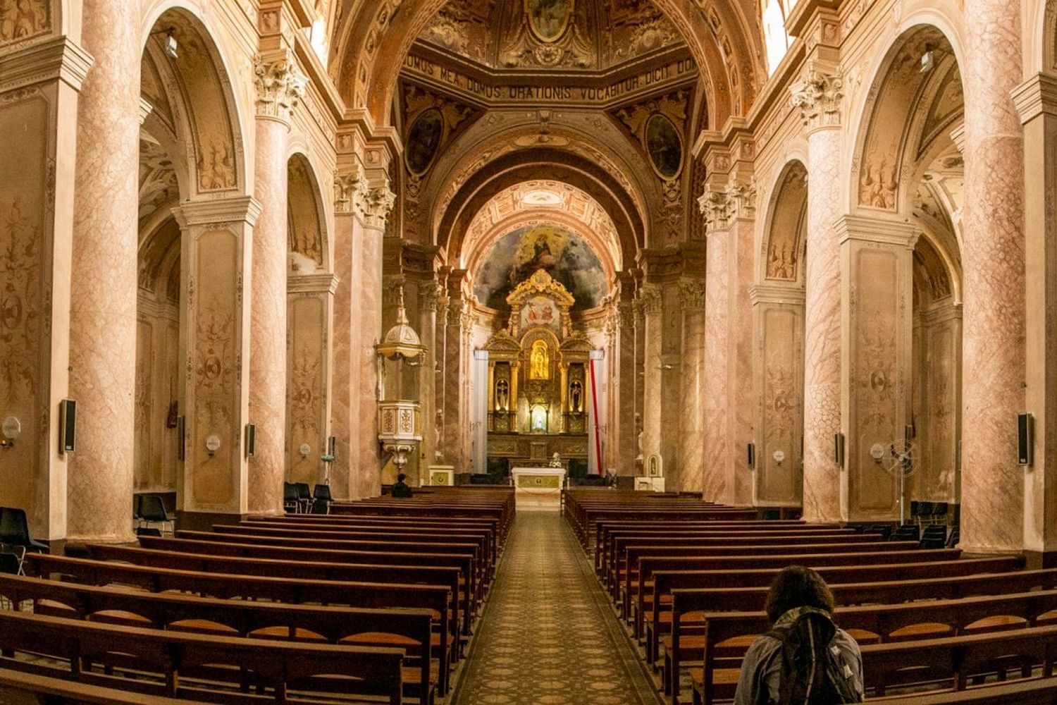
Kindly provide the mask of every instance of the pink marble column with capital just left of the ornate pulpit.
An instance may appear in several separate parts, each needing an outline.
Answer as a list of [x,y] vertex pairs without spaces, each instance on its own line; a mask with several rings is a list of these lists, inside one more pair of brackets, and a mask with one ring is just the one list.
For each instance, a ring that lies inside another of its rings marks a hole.
[[357,359],[353,361],[359,367],[359,386],[354,390],[354,394],[359,396],[359,427],[355,437],[355,458],[359,466],[354,470],[357,497],[377,497],[382,494],[378,372],[374,346],[385,333],[382,330],[382,240],[386,218],[395,200],[395,194],[389,190],[388,180],[381,180],[371,184],[363,206],[358,291],[355,292],[359,310],[359,347]]

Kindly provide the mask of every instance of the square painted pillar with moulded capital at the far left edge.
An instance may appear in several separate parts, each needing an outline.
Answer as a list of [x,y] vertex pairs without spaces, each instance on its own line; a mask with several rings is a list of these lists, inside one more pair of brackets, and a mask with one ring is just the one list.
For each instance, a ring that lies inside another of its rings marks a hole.
[[19,420],[21,433],[0,450],[4,467],[18,468],[17,482],[0,482],[0,505],[24,508],[34,537],[61,539],[72,456],[58,450],[58,408],[69,396],[75,199],[74,188],[55,185],[77,174],[77,92],[92,57],[66,37],[19,42],[13,32],[0,29],[0,164],[18,166],[0,169],[0,358],[14,372],[0,379],[0,419]]

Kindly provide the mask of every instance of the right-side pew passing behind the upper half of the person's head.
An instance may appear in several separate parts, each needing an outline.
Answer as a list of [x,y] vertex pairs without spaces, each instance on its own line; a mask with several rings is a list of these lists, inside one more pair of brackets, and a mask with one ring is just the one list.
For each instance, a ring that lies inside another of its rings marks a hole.
[[[913,600],[960,600],[975,595],[1002,595],[1006,591],[1057,588],[1057,569],[1017,571],[920,580],[849,582],[830,586],[837,605],[897,605]],[[672,590],[671,633],[662,636],[664,690],[678,702],[679,673],[688,653],[700,657],[705,648],[705,613],[753,611],[762,608],[767,588],[675,589]],[[1032,593],[1041,594],[1041,593]],[[925,602],[928,605],[931,602]],[[840,608],[842,609],[842,608]],[[692,630],[692,631],[691,631]],[[663,631],[662,631],[663,634]]]

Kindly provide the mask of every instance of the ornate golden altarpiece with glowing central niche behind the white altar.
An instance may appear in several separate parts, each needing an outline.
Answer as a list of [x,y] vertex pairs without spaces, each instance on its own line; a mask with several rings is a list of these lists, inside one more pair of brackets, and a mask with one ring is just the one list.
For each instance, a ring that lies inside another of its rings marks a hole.
[[542,466],[555,452],[586,467],[591,342],[573,330],[574,302],[543,270],[506,297],[509,321],[484,348],[489,467]]

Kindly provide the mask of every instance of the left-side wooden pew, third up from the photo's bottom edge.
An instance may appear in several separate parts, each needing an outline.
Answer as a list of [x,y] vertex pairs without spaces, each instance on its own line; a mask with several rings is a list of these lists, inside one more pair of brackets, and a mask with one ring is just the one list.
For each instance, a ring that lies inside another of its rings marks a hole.
[[[32,602],[35,614],[55,617],[227,636],[404,648],[419,660],[416,667],[405,667],[405,694],[424,705],[433,702],[438,678],[430,663],[431,610],[249,602],[14,575],[0,575],[0,596],[16,609]],[[439,674],[446,665],[438,661]]]

